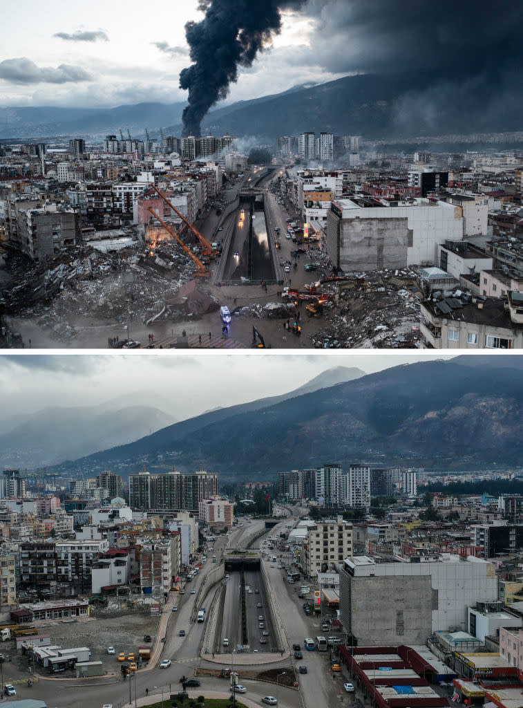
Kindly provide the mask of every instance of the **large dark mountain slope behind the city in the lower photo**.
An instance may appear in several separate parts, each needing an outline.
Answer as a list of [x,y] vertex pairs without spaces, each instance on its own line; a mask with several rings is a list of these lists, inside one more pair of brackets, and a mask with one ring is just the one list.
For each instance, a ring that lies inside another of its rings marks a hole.
[[265,479],[325,462],[521,464],[523,360],[477,359],[415,362],[285,400],[220,409],[61,469],[127,476],[144,464],[187,472],[201,465],[225,480]]

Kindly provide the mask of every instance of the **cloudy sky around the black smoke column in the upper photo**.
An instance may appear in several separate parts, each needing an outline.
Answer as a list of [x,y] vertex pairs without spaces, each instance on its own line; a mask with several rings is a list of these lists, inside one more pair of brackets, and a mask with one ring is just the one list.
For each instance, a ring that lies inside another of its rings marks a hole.
[[[190,65],[185,23],[224,0],[157,0],[125,5],[36,0],[4,13],[0,107],[109,107],[185,101],[180,70]],[[226,0],[234,5],[246,0]],[[250,0],[253,3],[261,0]],[[282,31],[251,67],[241,68],[229,101],[353,73],[418,72],[427,85],[521,82],[523,6],[491,0],[281,0]],[[294,9],[290,9],[294,8]]]

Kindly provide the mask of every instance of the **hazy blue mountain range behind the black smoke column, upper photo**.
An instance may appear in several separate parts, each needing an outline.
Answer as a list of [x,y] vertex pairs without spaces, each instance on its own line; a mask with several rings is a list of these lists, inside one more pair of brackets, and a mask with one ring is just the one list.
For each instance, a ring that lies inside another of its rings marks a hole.
[[[494,87],[495,89],[495,87]],[[519,130],[519,102],[502,100],[485,81],[471,87],[441,86],[423,72],[343,76],[326,84],[293,86],[282,93],[237,101],[210,111],[202,135],[275,139],[305,130],[338,135],[412,137]],[[138,103],[115,108],[1,108],[0,138],[78,135],[100,138],[127,127],[154,137],[159,126],[181,134],[185,103]],[[464,124],[463,116],[467,116]]]

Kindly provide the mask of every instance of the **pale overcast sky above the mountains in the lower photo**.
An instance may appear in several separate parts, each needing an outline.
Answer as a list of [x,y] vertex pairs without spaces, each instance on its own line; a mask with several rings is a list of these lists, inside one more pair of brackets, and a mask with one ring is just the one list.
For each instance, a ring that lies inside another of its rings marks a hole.
[[0,421],[48,406],[88,406],[115,398],[156,406],[182,420],[218,406],[277,396],[331,367],[365,373],[440,353],[287,355],[130,353],[0,355]]

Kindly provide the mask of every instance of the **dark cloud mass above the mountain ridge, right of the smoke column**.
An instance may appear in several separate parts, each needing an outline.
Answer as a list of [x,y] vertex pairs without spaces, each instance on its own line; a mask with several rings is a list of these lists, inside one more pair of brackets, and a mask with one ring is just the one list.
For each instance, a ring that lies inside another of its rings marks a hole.
[[521,62],[523,5],[491,0],[309,0],[314,52],[332,72],[429,72],[456,79]]

